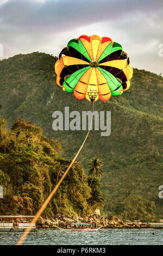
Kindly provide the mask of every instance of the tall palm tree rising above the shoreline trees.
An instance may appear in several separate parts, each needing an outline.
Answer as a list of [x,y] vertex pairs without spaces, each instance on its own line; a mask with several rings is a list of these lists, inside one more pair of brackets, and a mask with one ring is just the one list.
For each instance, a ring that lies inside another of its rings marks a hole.
[[103,176],[103,171],[101,169],[101,167],[103,166],[103,162],[99,160],[99,157],[95,156],[93,159],[90,159],[88,166],[89,166],[89,176],[92,177],[92,180],[91,180],[91,185],[92,185],[92,181],[95,175],[99,178],[102,178]]

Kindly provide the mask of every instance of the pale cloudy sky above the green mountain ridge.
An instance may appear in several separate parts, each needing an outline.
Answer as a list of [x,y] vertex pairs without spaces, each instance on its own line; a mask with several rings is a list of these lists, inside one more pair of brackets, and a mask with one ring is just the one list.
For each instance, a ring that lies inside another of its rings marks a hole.
[[134,68],[159,74],[162,31],[162,0],[0,0],[4,58],[34,51],[58,56],[70,39],[98,34],[119,42]]

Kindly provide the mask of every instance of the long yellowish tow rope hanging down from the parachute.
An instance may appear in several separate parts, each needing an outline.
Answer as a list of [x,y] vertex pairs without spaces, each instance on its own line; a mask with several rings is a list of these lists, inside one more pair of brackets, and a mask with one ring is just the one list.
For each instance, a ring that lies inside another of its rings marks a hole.
[[55,192],[58,190],[59,186],[61,185],[61,182],[65,179],[65,176],[67,175],[68,171],[72,167],[72,164],[74,163],[74,161],[76,161],[80,151],[82,150],[82,148],[83,148],[83,146],[84,146],[84,144],[86,142],[87,137],[89,136],[89,133],[90,133],[90,130],[91,130],[91,126],[92,126],[92,121],[93,121],[93,112],[94,112],[94,105],[93,105],[92,120],[91,120],[91,124],[90,124],[89,130],[88,130],[87,135],[86,135],[82,145],[80,146],[76,156],[74,156],[74,159],[70,163],[70,166],[68,166],[68,168],[66,169],[65,173],[62,175],[61,179],[59,180],[58,184],[54,187],[53,191],[49,194],[48,198],[45,200],[45,202],[41,206],[40,210],[37,211],[37,213],[36,213],[35,217],[33,218],[32,222],[30,222],[30,224],[29,224],[29,228],[27,228],[24,231],[24,233],[22,234],[22,236],[20,237],[20,239],[18,240],[16,245],[22,245],[23,241],[26,239],[27,235],[29,234],[30,230],[32,229],[32,224],[36,223],[38,218],[41,216],[43,210],[45,210],[45,208],[48,205],[49,201],[52,199],[52,197],[54,196]]

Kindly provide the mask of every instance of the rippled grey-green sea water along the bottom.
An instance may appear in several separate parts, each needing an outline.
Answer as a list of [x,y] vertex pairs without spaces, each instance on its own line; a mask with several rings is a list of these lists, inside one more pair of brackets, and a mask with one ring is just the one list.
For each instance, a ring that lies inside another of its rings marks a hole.
[[[152,233],[155,235],[152,235]],[[21,232],[0,232],[0,245],[15,245]],[[163,245],[163,230],[101,229],[97,232],[40,229],[23,245]]]

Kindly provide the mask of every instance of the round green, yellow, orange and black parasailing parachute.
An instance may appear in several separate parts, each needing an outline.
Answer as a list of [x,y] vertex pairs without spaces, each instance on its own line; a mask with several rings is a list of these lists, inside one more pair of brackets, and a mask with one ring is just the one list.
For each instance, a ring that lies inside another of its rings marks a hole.
[[55,64],[57,84],[78,100],[107,101],[130,87],[128,54],[111,38],[81,35],[68,42]]

